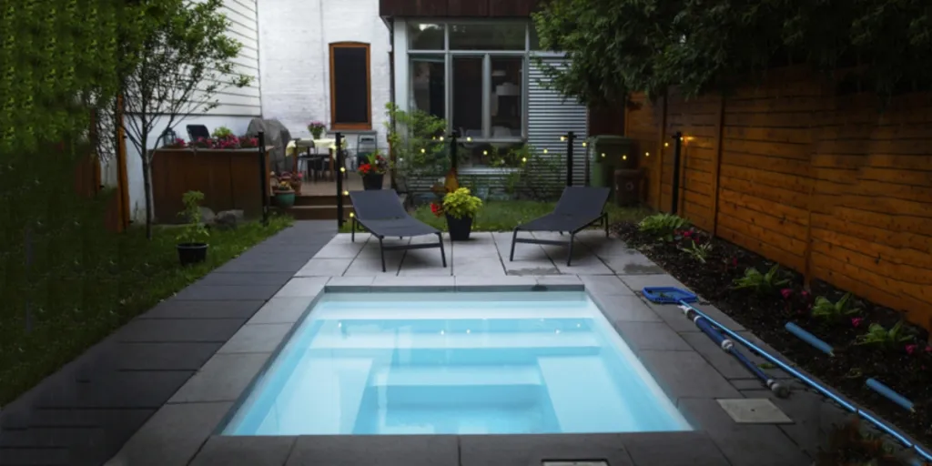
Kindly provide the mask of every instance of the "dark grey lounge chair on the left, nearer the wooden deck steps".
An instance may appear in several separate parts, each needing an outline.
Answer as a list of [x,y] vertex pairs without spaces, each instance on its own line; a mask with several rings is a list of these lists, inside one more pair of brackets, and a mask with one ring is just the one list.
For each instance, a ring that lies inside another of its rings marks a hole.
[[[404,212],[401,199],[394,189],[374,189],[369,191],[352,191],[349,193],[352,208],[352,232],[350,240],[356,240],[356,228],[363,226],[378,239],[379,254],[382,256],[382,271],[385,270],[385,252],[408,249],[440,248],[440,260],[446,267],[443,233],[437,228],[424,224]],[[386,246],[385,237],[398,238],[437,235],[437,242],[423,244],[400,244]]]

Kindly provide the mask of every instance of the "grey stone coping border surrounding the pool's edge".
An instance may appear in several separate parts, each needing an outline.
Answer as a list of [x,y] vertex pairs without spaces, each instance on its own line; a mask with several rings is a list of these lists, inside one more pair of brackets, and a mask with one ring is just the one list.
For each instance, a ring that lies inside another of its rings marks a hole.
[[[235,416],[254,384],[326,293],[380,292],[546,292],[585,291],[616,332],[635,352],[657,384],[684,418],[689,432],[528,434],[528,435],[301,435],[226,436],[220,432]],[[620,303],[614,305],[612,303]],[[639,303],[639,306],[637,305]],[[295,309],[302,308],[296,312]],[[392,459],[397,464],[541,464],[541,459],[604,459],[611,466],[661,464],[655,458],[688,464],[739,464],[730,448],[764,445],[768,454],[790,450],[778,464],[809,464],[784,432],[774,425],[737,425],[717,403],[721,398],[744,398],[729,380],[708,365],[698,351],[683,342],[659,317],[621,315],[630,308],[651,310],[635,291],[616,276],[545,277],[295,277],[213,355],[194,377],[175,393],[144,426],[151,435],[133,436],[107,464],[304,464],[327,458]],[[273,315],[275,314],[275,315]],[[685,319],[684,319],[685,320]],[[666,333],[664,333],[666,328]],[[644,339],[641,336],[652,335]],[[672,359],[670,356],[675,356]],[[689,382],[683,387],[681,366]],[[685,391],[684,391],[685,390]],[[180,426],[184,428],[179,429]],[[167,432],[175,430],[176,432]],[[184,433],[184,434],[182,434]],[[735,433],[743,436],[730,442]],[[450,439],[456,439],[453,442]],[[775,445],[774,445],[775,440]],[[769,446],[769,447],[768,447]],[[752,452],[754,453],[754,452]],[[455,458],[447,458],[453,455]],[[476,462],[463,460],[476,456]],[[498,455],[498,456],[496,456]],[[504,461],[511,455],[514,460]],[[515,456],[516,455],[516,456]],[[658,457],[659,456],[659,457]],[[726,456],[728,459],[726,459]],[[755,455],[757,456],[757,455]],[[276,459],[281,458],[281,462]],[[356,457],[354,457],[356,458]],[[520,459],[519,459],[520,458]],[[638,458],[641,458],[638,461]],[[360,461],[373,462],[368,459]],[[517,462],[514,462],[517,461]],[[395,462],[391,462],[394,464]],[[265,464],[265,463],[264,463]],[[774,463],[777,464],[777,463]]]

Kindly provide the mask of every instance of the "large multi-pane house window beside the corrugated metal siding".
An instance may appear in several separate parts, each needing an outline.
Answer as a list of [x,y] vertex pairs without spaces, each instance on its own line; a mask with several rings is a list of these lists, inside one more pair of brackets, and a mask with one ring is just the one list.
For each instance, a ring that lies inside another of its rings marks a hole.
[[[473,165],[527,136],[527,21],[407,24],[411,107],[470,139]],[[464,141],[466,144],[466,141]],[[494,144],[494,145],[491,145]]]

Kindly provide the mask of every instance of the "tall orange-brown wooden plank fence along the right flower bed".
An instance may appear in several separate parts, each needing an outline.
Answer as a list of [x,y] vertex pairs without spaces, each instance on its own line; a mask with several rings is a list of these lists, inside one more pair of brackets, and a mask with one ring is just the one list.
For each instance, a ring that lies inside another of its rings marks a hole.
[[643,159],[652,207],[669,210],[682,131],[680,215],[932,328],[932,95],[882,112],[875,96],[784,69],[724,98],[636,101],[628,136],[661,155]]

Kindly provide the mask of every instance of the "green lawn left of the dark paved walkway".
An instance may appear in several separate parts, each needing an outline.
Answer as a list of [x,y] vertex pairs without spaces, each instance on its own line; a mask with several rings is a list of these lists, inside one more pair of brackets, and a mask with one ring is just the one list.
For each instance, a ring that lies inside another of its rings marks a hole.
[[[5,288],[10,306],[0,312],[0,406],[133,317],[292,222],[273,216],[267,226],[250,222],[234,230],[213,230],[207,261],[193,267],[178,264],[177,229],[171,227],[157,227],[151,241],[143,228],[133,227],[121,235],[75,238],[79,251],[70,255],[48,252],[54,267]],[[25,308],[32,309],[29,332]]]

